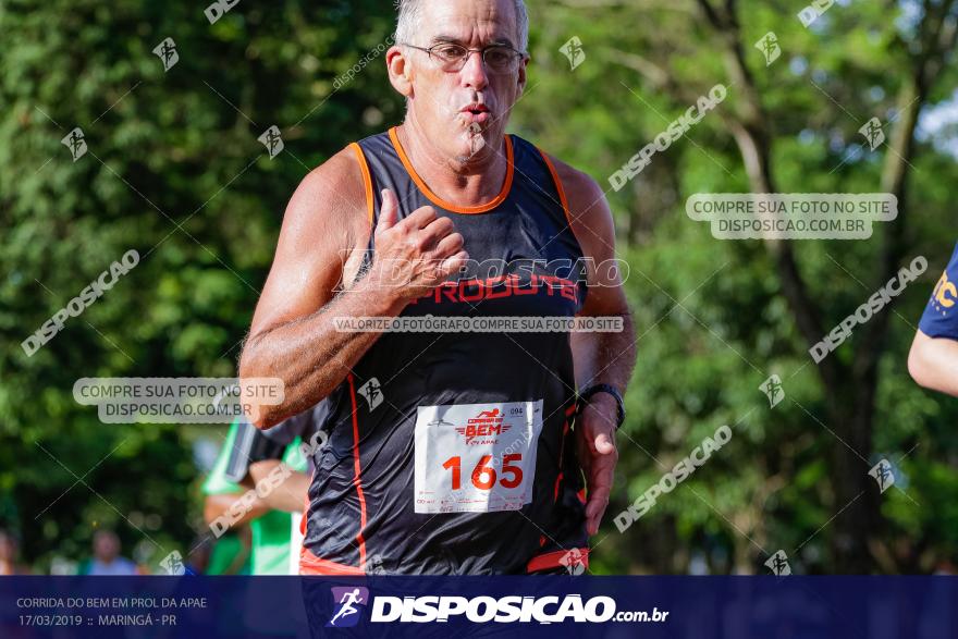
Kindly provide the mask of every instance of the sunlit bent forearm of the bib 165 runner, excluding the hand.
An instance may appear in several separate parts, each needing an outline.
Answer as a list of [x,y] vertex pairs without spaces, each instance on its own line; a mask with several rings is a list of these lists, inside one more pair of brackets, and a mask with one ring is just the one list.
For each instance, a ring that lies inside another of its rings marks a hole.
[[318,312],[250,336],[241,357],[241,379],[278,378],[284,385],[283,403],[260,405],[253,422],[269,428],[316,405],[381,334],[336,330],[336,320],[395,317],[405,305],[389,287],[380,286],[378,278],[366,277]]

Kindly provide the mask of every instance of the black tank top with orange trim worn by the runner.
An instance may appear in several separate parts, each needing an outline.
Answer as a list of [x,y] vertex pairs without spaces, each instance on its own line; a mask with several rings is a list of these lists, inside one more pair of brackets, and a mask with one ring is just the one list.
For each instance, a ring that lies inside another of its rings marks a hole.
[[[506,136],[502,191],[470,208],[429,191],[395,128],[351,146],[373,228],[390,188],[400,219],[431,205],[469,253],[464,273],[401,317],[579,311],[582,251],[562,184],[533,145]],[[367,573],[469,575],[525,573],[581,552],[575,392],[568,332],[383,333],[329,396],[304,554]]]

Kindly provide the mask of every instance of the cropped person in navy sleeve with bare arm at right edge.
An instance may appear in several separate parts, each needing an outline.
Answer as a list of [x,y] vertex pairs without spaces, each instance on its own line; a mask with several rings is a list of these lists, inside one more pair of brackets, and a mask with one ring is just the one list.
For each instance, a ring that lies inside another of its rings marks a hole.
[[958,245],[935,284],[908,354],[908,372],[920,385],[958,396]]

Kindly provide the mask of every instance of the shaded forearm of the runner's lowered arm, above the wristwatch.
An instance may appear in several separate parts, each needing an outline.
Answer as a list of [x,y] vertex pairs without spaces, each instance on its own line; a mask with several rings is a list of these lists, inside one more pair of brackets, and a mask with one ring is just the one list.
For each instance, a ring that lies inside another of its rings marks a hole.
[[636,332],[631,315],[623,312],[621,332],[573,333],[576,385],[579,390],[606,383],[625,391],[636,364]]

